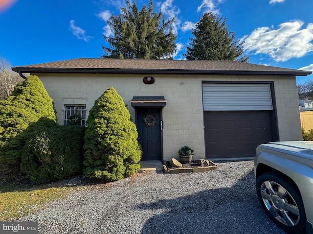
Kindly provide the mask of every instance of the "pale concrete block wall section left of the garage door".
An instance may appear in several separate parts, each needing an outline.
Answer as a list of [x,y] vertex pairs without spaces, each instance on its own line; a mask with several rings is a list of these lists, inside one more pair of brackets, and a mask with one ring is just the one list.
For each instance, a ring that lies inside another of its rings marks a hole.
[[[104,74],[37,74],[49,96],[53,98],[58,123],[64,122],[64,105],[85,104],[86,115],[108,88],[128,104],[131,116],[135,110],[130,101],[134,96],[164,96],[163,159],[179,158],[178,150],[188,145],[195,150],[195,159],[205,157],[201,80],[186,76],[165,75],[104,75]],[[152,76],[154,84],[144,84],[143,78]]]

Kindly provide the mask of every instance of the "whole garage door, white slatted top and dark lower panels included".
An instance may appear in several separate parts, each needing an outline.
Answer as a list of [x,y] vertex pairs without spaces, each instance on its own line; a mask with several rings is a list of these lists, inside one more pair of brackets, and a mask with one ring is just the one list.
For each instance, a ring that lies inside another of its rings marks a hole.
[[270,83],[202,83],[206,158],[251,158],[277,140]]

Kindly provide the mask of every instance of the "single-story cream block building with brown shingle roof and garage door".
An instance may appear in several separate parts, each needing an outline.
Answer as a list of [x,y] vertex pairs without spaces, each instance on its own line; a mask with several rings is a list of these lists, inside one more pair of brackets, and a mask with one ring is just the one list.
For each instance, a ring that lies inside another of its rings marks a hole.
[[128,104],[142,160],[253,158],[257,145],[301,140],[295,76],[312,72],[237,61],[72,59],[12,68],[37,75],[59,124],[82,124],[109,87]]

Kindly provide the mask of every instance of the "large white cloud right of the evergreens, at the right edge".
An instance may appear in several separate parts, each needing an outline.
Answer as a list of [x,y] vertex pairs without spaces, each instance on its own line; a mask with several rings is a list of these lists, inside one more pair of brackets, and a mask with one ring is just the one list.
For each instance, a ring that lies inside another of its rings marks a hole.
[[300,58],[313,51],[313,23],[302,26],[302,21],[295,20],[280,24],[278,29],[260,27],[240,41],[245,41],[245,50],[269,55],[275,61]]

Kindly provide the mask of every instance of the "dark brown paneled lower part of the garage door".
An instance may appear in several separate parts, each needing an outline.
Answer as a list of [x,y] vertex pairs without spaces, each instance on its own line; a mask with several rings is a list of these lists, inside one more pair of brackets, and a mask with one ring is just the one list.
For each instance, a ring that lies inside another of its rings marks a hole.
[[207,158],[254,157],[272,140],[269,111],[205,111]]

